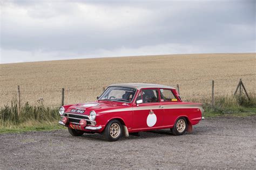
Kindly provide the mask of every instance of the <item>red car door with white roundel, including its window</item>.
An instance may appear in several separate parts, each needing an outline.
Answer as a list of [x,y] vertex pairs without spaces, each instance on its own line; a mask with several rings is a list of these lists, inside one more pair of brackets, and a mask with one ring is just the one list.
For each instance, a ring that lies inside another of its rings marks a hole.
[[162,126],[164,109],[159,105],[159,89],[141,89],[133,107],[133,130],[154,129]]

